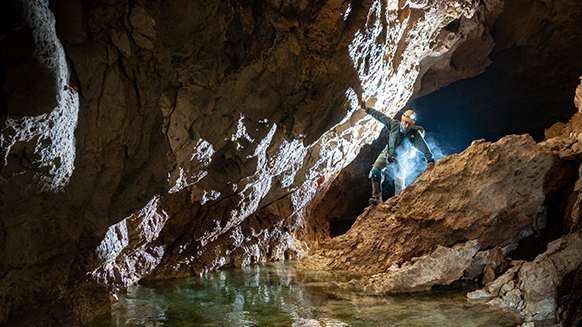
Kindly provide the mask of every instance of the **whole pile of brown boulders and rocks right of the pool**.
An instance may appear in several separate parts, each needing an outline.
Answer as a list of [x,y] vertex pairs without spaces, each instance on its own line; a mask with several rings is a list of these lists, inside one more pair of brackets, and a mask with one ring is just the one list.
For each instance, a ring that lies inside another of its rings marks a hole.
[[[378,293],[478,279],[486,285],[469,299],[518,309],[527,321],[573,326],[580,320],[573,289],[580,286],[582,267],[579,181],[573,185],[582,162],[579,122],[577,113],[567,124],[555,124],[539,144],[527,135],[474,142],[438,161],[401,196],[368,208],[348,233],[324,243],[296,268],[373,274],[359,284]],[[561,202],[558,217],[549,214],[554,195]],[[565,236],[531,262],[509,258],[519,240],[539,235],[548,223],[562,227]]]

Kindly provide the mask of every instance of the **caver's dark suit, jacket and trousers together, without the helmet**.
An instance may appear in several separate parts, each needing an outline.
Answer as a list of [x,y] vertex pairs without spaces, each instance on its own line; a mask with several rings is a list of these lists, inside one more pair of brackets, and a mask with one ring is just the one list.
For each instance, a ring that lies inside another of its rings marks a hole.
[[[403,145],[403,141],[407,138],[410,144],[415,147],[424,155],[426,162],[434,162],[434,157],[430,151],[428,145],[424,141],[422,133],[419,131],[421,129],[418,126],[413,126],[408,132],[404,132],[400,127],[400,121],[392,119],[378,110],[373,108],[366,108],[366,113],[374,117],[376,120],[384,124],[386,128],[390,131],[388,135],[388,144],[382,150],[376,162],[370,171],[370,178],[372,180],[372,197],[382,199],[382,182],[384,180],[384,174],[382,169],[386,168],[386,163],[394,163],[392,169],[396,167],[396,149]],[[399,194],[399,190],[396,190],[396,194]]]

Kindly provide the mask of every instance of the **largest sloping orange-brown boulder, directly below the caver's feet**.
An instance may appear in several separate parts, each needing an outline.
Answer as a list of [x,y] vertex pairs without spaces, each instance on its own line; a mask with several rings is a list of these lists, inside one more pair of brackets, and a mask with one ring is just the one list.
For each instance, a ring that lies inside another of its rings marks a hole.
[[545,226],[546,197],[573,173],[527,135],[476,141],[438,161],[401,196],[367,208],[348,233],[297,267],[385,273],[436,246],[509,245]]

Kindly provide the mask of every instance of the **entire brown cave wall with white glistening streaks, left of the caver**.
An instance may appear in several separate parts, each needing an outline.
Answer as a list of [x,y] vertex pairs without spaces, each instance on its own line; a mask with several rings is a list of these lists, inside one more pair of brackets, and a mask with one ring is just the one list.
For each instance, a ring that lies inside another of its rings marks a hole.
[[2,3],[0,324],[76,325],[142,278],[303,256],[381,131],[358,96],[395,114],[463,43],[491,47],[500,3]]

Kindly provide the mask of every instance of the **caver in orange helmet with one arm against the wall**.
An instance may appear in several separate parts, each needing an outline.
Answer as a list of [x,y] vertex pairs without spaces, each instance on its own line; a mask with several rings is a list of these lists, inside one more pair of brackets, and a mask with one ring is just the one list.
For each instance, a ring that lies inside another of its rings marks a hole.
[[[407,110],[402,115],[402,120],[392,119],[374,108],[366,105],[366,101],[362,100],[360,106],[366,113],[374,119],[378,120],[390,132],[388,135],[388,143],[382,152],[376,158],[372,170],[370,170],[369,178],[372,181],[372,197],[371,205],[377,205],[382,202],[382,183],[384,181],[385,172],[391,174],[395,181],[398,176],[400,168],[398,165],[397,156],[401,151],[407,151],[410,146],[415,147],[424,155],[426,160],[426,169],[432,170],[434,168],[434,156],[430,148],[424,141],[423,129],[416,126],[416,113],[412,110]],[[404,141],[404,142],[403,142]],[[398,195],[401,189],[395,187],[395,193]]]

